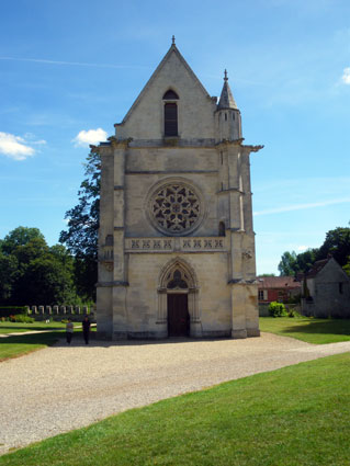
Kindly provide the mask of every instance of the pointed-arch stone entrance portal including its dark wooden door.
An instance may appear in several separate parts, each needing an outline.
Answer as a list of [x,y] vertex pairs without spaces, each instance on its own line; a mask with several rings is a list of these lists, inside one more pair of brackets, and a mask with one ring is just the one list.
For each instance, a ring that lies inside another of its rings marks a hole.
[[199,287],[193,269],[173,259],[161,271],[158,287],[158,319],[168,337],[201,337]]

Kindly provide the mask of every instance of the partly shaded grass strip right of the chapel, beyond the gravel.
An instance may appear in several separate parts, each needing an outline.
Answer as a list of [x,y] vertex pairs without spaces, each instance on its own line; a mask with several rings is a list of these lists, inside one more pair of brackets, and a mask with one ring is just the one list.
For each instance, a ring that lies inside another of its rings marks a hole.
[[350,319],[260,317],[259,323],[260,330],[263,332],[292,337],[314,344],[350,340]]

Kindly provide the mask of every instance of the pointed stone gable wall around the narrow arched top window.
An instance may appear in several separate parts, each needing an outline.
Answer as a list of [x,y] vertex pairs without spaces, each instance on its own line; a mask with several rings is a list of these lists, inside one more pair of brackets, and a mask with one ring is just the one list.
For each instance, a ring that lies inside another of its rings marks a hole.
[[[178,95],[179,137],[214,137],[215,100],[206,92],[174,44],[142,90],[121,124],[116,137],[161,139],[165,94]],[[201,117],[197,117],[200,115]]]

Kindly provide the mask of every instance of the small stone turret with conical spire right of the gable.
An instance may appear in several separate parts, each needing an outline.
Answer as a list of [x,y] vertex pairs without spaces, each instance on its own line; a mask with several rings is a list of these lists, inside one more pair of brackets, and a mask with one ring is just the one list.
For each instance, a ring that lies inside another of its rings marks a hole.
[[218,141],[241,139],[240,112],[228,86],[226,69],[224,86],[216,110],[216,127]]

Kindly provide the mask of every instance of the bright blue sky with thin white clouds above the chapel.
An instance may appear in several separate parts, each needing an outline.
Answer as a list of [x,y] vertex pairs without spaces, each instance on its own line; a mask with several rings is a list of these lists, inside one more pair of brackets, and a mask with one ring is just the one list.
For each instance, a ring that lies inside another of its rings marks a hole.
[[251,156],[258,273],[350,220],[349,0],[12,0],[0,15],[0,238],[49,245],[88,143],[114,133],[171,36],[211,95],[223,71]]

